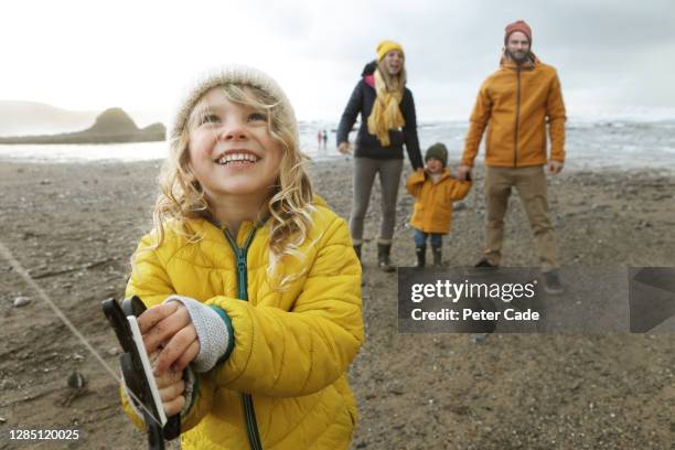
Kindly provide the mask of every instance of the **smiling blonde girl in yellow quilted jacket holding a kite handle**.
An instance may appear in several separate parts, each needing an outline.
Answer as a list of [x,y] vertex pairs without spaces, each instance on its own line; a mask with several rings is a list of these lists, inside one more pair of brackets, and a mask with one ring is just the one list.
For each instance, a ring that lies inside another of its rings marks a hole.
[[361,266],[312,193],[286,95],[256,69],[207,74],[169,142],[127,296],[149,307],[139,326],[182,447],[346,449]]

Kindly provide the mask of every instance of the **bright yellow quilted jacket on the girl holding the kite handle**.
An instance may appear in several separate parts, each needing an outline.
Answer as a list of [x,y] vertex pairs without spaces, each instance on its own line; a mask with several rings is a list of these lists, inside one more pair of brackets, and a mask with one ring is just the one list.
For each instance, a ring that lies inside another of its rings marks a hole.
[[[136,254],[127,296],[139,296],[148,307],[172,293],[191,297],[222,308],[234,330],[227,361],[196,376],[197,395],[181,419],[182,448],[248,449],[256,427],[264,449],[349,448],[356,403],[346,371],[364,340],[361,265],[344,219],[315,206],[314,226],[300,247],[303,259],[281,265],[280,276],[302,274],[283,292],[266,276],[267,225],[242,224],[238,247],[255,235],[239,274],[224,229],[203,219],[191,222],[200,242],[169,229],[158,249]],[[151,233],[139,249],[156,243]],[[248,301],[238,300],[243,276]],[[124,395],[122,400],[142,429]]]

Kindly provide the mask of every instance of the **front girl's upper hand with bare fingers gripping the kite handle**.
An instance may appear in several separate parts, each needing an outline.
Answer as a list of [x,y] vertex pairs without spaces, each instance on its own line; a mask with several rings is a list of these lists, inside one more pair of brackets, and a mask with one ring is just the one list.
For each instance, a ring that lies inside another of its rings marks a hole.
[[200,352],[200,341],[190,314],[178,301],[146,310],[138,318],[138,326],[148,354],[160,350],[154,364],[156,376],[163,375],[169,367],[182,373]]

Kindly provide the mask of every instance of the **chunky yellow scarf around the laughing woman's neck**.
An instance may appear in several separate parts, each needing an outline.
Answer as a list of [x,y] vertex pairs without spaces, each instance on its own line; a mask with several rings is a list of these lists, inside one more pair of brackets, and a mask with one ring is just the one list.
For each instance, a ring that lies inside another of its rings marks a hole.
[[379,71],[375,71],[375,93],[377,97],[368,117],[368,132],[375,135],[382,147],[389,147],[389,130],[406,125],[398,104],[403,99],[403,89],[388,92]]

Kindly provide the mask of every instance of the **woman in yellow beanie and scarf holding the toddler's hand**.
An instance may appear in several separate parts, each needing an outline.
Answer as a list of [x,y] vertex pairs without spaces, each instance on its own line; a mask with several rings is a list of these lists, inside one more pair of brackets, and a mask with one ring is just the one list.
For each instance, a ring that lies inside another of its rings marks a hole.
[[396,42],[381,42],[377,45],[377,60],[366,64],[361,76],[338,127],[338,150],[344,154],[351,153],[349,133],[361,114],[354,152],[354,200],[350,229],[354,249],[361,258],[363,223],[373,181],[379,174],[382,223],[377,239],[377,264],[384,271],[394,271],[389,253],[396,223],[396,196],[404,164],[404,144],[413,168],[422,168],[415,101],[413,93],[406,87],[403,47]]

